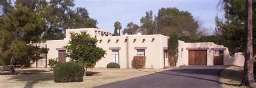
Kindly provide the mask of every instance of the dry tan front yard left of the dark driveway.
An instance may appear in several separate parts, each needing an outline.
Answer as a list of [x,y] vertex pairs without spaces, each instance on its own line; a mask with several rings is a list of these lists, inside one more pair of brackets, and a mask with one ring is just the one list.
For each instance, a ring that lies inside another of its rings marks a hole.
[[49,68],[16,68],[18,75],[0,75],[0,87],[93,87],[168,69],[89,69],[83,82],[55,83]]

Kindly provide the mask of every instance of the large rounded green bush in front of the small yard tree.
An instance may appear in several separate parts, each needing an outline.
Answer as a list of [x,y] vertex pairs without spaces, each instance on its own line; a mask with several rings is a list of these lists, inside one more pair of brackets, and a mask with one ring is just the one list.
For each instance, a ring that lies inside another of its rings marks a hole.
[[83,82],[84,67],[75,62],[58,64],[53,69],[54,81],[60,83]]

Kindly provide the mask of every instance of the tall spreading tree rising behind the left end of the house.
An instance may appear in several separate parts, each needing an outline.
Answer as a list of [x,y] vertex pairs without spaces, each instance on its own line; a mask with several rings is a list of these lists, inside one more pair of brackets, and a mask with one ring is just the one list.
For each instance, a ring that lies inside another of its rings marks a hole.
[[77,7],[74,0],[17,0],[15,4],[27,6],[41,15],[46,21],[45,40],[65,38],[65,31],[70,28],[97,28],[97,20],[89,17],[85,8]]

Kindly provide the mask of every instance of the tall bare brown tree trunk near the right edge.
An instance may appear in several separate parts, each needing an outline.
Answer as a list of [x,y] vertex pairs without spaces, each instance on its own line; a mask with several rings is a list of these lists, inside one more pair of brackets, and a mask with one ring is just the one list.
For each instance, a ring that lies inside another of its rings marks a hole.
[[253,40],[252,40],[252,0],[246,0],[246,51],[245,51],[245,64],[244,74],[242,76],[241,85],[251,86],[254,82],[253,77]]

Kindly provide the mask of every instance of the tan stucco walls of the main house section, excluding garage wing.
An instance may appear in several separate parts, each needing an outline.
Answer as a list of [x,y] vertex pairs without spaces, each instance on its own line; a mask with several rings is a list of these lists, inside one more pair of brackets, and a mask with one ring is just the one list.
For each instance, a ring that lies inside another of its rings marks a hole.
[[[145,48],[146,65],[145,68],[163,68],[164,67],[164,49],[167,49],[168,37],[164,35],[123,35],[111,36],[110,32],[99,30],[97,28],[79,28],[66,30],[66,38],[63,40],[49,40],[46,45],[49,48],[48,59],[58,57],[58,50],[68,45],[71,33],[86,32],[90,36],[98,39],[97,46],[106,50],[105,58],[102,58],[96,68],[106,68],[106,65],[112,62],[111,48],[119,48],[120,68],[132,68],[131,62],[133,56],[137,55],[137,49]],[[106,34],[109,35],[106,35]],[[167,58],[165,59],[167,60]],[[66,58],[69,61],[69,58]],[[168,65],[168,62],[166,62]],[[35,67],[35,64],[32,65]]]

